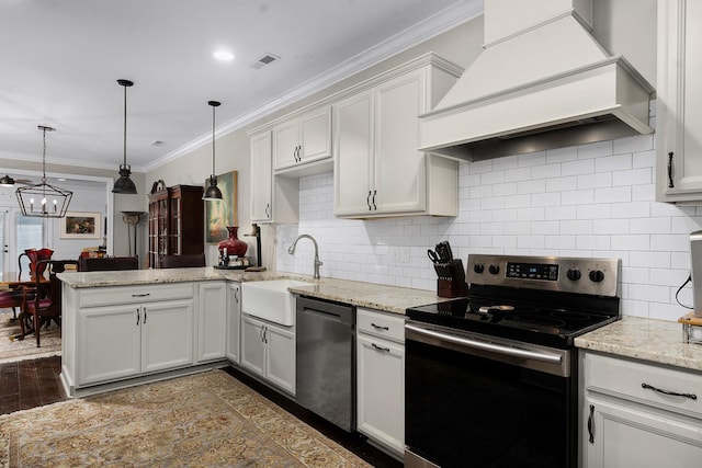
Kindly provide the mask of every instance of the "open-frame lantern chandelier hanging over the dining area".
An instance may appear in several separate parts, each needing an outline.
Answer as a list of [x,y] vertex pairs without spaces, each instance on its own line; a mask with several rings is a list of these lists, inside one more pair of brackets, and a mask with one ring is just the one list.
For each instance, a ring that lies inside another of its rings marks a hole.
[[46,133],[55,128],[39,125],[44,149],[42,151],[42,182],[16,190],[18,202],[24,216],[63,218],[73,193],[46,183]]

